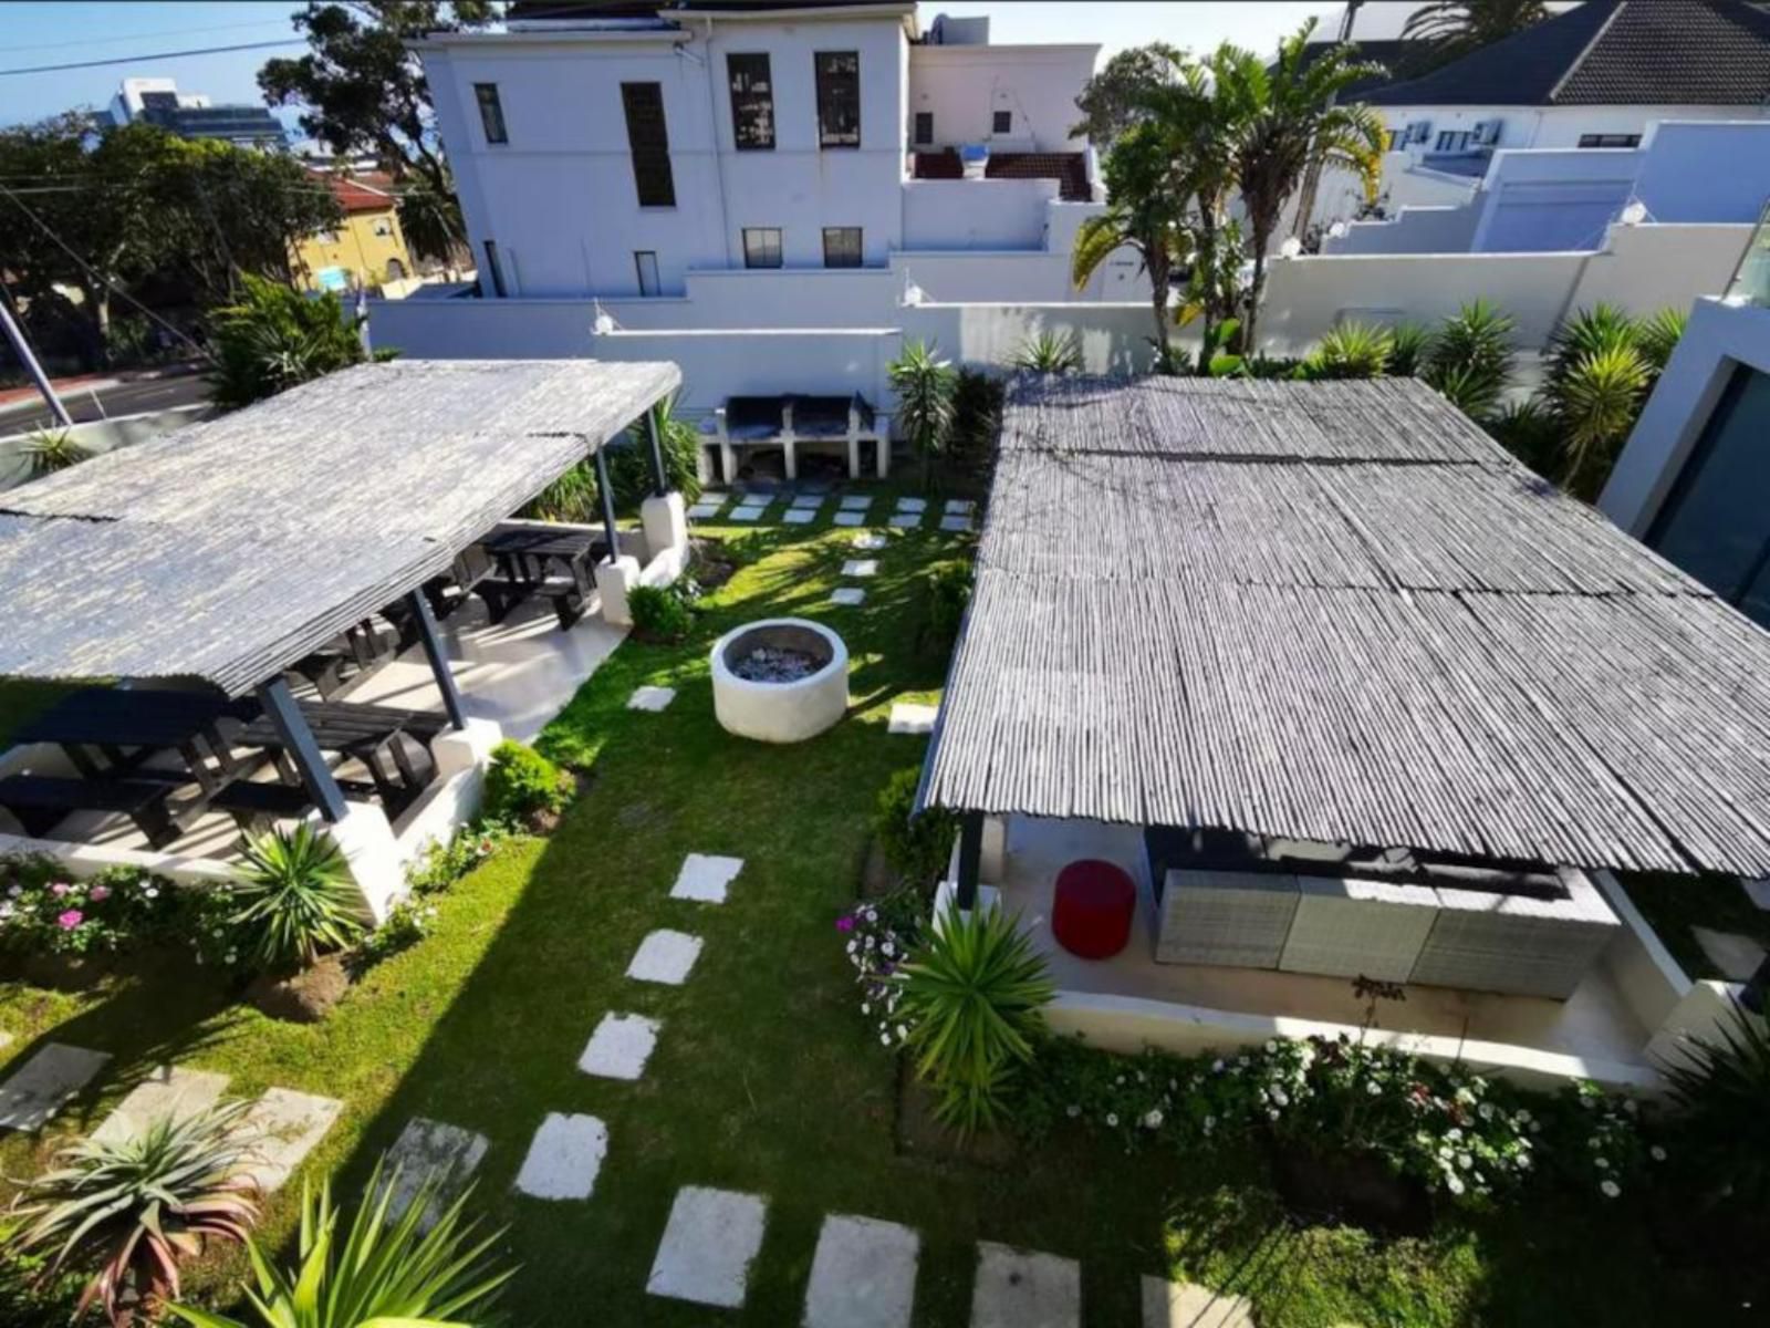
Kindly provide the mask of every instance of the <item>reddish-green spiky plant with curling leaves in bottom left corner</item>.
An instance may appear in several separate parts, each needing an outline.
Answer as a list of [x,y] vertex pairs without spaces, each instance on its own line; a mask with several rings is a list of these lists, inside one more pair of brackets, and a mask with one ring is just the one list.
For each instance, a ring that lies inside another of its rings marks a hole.
[[42,1277],[96,1266],[76,1317],[94,1301],[113,1324],[179,1294],[179,1264],[209,1239],[244,1241],[258,1218],[239,1117],[246,1103],[159,1117],[120,1142],[83,1139],[32,1181],[7,1241],[14,1255],[53,1257]]

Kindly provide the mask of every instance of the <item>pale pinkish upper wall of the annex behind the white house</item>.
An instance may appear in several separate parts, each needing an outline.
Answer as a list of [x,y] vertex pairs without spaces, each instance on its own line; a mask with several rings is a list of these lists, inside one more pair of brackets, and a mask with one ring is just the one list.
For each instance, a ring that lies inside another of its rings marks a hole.
[[[1099,46],[915,46],[903,140],[913,140],[915,113],[931,112],[936,149],[1080,152],[1083,140],[1069,129],[1081,119],[1076,96],[1097,55]],[[998,110],[1012,115],[1004,136],[993,129]]]

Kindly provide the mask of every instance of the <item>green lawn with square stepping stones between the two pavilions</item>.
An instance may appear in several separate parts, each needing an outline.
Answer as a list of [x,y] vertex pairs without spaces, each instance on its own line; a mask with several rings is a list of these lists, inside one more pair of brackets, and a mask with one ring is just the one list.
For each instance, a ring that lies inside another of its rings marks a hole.
[[[735,528],[729,533],[738,533]],[[828,606],[848,531],[743,535],[758,561],[712,597],[681,646],[627,643],[550,731],[595,758],[595,781],[547,841],[524,841],[441,901],[435,933],[375,969],[320,1027],[273,1023],[227,1004],[202,972],[168,972],[71,997],[0,986],[0,1027],[27,1055],[42,1039],[112,1052],[117,1073],[62,1128],[101,1119],[159,1061],[347,1103],[306,1174],[361,1181],[412,1116],[483,1131],[485,1209],[510,1224],[522,1262],[508,1319],[552,1324],[798,1323],[828,1213],[903,1222],[924,1238],[917,1323],[968,1323],[979,1239],[1081,1261],[1087,1324],[1135,1324],[1138,1275],[1189,1271],[1253,1296],[1262,1328],[1379,1324],[1658,1324],[1719,1321],[1655,1268],[1639,1215],[1556,1211],[1446,1222],[1428,1241],[1297,1227],[1253,1156],[1124,1156],[1064,1137],[982,1167],[896,1147],[896,1069],[855,1008],[835,917],[853,901],[867,816],[887,776],[924,740],[890,737],[890,703],[936,694],[945,660],[915,646],[920,574],[959,549],[931,533],[894,540],[857,609]],[[713,721],[706,645],[749,618],[828,622],[853,653],[855,712],[795,747],[727,737]],[[680,689],[662,714],[625,708],[641,683]],[[687,852],[745,868],[724,907],[669,899]],[[704,938],[681,988],[623,977],[639,940],[669,926]],[[607,1011],[664,1023],[637,1084],[575,1061]],[[547,1112],[609,1126],[588,1202],[512,1193]],[[41,1163],[39,1140],[0,1142],[0,1174]],[[768,1199],[768,1231],[742,1314],[644,1294],[671,1199],[683,1185]],[[287,1236],[299,1185],[267,1215]],[[205,1270],[214,1287],[241,1268]]]

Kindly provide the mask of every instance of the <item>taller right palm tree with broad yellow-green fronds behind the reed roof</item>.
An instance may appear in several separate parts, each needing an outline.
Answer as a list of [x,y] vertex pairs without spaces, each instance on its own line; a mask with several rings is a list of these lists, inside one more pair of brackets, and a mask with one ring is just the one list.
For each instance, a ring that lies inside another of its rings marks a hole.
[[1237,46],[1221,46],[1211,57],[1232,126],[1230,163],[1241,186],[1253,243],[1253,282],[1248,287],[1248,319],[1243,347],[1258,354],[1260,296],[1266,289],[1266,251],[1278,232],[1285,204],[1312,166],[1352,170],[1375,197],[1382,168],[1382,119],[1368,106],[1338,104],[1340,94],[1361,78],[1381,78],[1381,64],[1354,58],[1354,46],[1335,46],[1310,58],[1308,41],[1315,19],[1278,44],[1271,69]]

